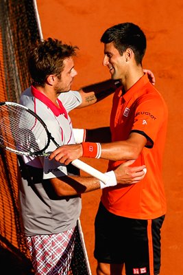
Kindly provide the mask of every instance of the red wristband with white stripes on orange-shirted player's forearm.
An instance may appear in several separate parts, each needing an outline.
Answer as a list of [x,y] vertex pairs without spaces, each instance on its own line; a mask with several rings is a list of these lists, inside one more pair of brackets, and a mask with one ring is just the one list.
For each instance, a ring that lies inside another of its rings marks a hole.
[[82,157],[99,158],[101,156],[101,144],[95,142],[82,142]]

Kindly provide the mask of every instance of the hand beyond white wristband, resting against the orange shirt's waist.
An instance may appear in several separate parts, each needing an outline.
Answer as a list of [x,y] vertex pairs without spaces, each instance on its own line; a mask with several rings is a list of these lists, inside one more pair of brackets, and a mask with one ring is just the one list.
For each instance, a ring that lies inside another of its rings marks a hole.
[[145,165],[130,167],[134,162],[135,160],[128,160],[114,170],[118,184],[136,184],[145,177]]

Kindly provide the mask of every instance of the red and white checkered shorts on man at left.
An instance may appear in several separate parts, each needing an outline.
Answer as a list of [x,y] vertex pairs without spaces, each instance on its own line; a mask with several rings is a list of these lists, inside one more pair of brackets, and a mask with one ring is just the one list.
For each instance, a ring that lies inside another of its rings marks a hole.
[[36,275],[67,275],[75,243],[75,228],[51,235],[27,236]]

